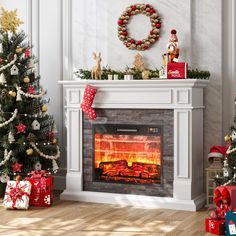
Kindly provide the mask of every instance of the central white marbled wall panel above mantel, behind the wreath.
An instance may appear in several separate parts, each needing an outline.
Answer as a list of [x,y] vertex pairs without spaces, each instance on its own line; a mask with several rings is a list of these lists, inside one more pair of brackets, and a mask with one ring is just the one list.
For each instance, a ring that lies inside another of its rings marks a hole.
[[[177,29],[180,42],[180,59],[190,59],[191,4],[189,0],[149,0],[162,18],[160,39],[150,50],[140,52],[149,68],[160,68],[161,55],[171,29]],[[74,68],[91,68],[94,65],[92,51],[100,51],[104,66],[125,69],[132,66],[137,51],[128,50],[117,37],[117,20],[122,12],[139,0],[84,0],[72,1],[72,58]],[[129,31],[136,39],[146,38],[151,30],[149,17],[136,15],[129,23]],[[119,62],[119,63],[117,63]]]

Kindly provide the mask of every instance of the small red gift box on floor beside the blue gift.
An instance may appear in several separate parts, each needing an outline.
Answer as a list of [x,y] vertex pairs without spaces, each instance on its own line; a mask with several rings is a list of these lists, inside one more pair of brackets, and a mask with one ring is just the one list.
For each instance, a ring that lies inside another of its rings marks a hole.
[[225,235],[225,220],[206,218],[205,229],[215,235]]

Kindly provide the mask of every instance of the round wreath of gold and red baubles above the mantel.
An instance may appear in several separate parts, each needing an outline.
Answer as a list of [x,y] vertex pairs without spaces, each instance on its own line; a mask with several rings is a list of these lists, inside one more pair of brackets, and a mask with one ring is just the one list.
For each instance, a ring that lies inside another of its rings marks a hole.
[[[127,24],[133,15],[144,14],[150,17],[152,29],[147,38],[142,40],[135,40],[129,37],[127,31]],[[131,50],[147,50],[154,44],[158,38],[161,28],[161,19],[156,10],[150,4],[135,4],[127,7],[126,11],[122,13],[118,19],[118,37],[124,45]]]

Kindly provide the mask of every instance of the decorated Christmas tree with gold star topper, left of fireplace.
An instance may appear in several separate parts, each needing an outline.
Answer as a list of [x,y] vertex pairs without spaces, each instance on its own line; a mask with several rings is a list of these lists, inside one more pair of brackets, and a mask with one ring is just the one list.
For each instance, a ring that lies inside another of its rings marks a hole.
[[47,114],[31,45],[17,11],[0,16],[0,180],[32,170],[57,171],[56,125]]

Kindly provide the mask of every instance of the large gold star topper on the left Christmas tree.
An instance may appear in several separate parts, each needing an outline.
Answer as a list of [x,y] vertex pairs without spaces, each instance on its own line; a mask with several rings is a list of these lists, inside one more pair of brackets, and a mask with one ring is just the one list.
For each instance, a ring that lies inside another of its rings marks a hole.
[[4,32],[15,33],[20,24],[24,22],[17,18],[17,10],[7,11],[2,8],[2,13],[0,16],[0,29]]

